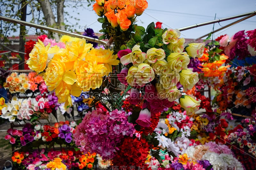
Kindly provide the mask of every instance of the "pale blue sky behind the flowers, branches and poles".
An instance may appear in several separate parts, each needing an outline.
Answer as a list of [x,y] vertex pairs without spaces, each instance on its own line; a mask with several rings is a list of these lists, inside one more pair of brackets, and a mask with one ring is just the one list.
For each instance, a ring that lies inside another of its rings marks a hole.
[[[225,18],[233,15],[238,15],[246,12],[256,10],[256,0],[147,0],[148,9],[137,17],[137,24],[146,27],[151,22],[163,22],[165,28],[181,28],[184,26],[190,26],[210,20]],[[69,1],[72,3],[72,1]],[[83,27],[80,29],[82,32],[85,27],[92,28],[95,32],[101,29],[101,24],[97,22],[99,18],[92,10],[92,7],[87,7],[87,2],[84,0],[84,7],[78,8],[79,15],[72,12],[72,9],[66,9],[70,15],[80,18],[79,25]],[[226,26],[237,19],[232,19],[224,22],[216,23],[214,29],[218,29],[222,26]],[[28,18],[29,20],[29,18]],[[75,21],[70,20],[68,24],[75,25]],[[184,38],[198,38],[204,34],[212,31],[213,24],[208,26],[201,26],[193,29],[189,29],[181,32],[181,37]],[[256,16],[242,21],[234,26],[223,29],[215,33],[215,38],[222,34],[228,34],[232,36],[241,30],[253,30],[256,28]],[[78,29],[78,27],[77,27]],[[15,33],[16,34],[16,33]],[[29,34],[33,34],[33,31],[29,31]]]

